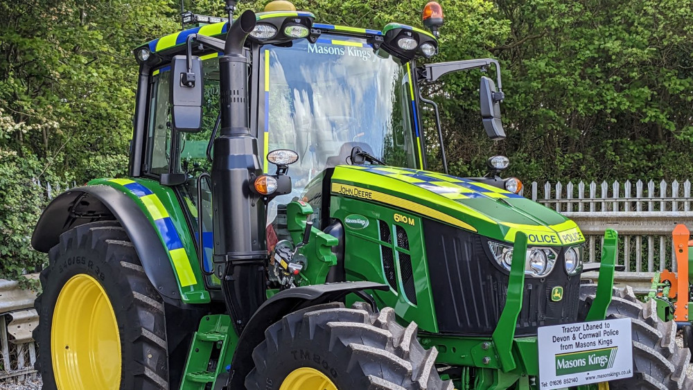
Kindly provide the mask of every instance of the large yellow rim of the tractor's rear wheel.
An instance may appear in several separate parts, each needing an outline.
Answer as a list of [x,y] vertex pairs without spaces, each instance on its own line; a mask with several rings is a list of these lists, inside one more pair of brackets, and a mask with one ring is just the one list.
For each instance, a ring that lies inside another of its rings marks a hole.
[[60,390],[119,389],[121,339],[108,296],[87,274],[70,278],[58,295],[51,358]]

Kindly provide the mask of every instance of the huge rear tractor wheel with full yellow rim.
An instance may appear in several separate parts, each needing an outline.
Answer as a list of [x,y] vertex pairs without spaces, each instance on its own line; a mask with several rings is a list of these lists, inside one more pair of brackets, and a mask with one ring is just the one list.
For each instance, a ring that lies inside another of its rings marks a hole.
[[168,389],[164,303],[117,222],[63,233],[40,280],[45,390]]

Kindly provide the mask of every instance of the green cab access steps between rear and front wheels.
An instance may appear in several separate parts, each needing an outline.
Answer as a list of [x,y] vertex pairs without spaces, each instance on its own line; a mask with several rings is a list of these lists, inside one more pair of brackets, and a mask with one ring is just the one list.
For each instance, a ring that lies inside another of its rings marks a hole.
[[180,390],[214,389],[216,378],[229,371],[233,353],[227,351],[238,345],[236,333],[229,328],[231,318],[225,314],[202,317],[193,335]]

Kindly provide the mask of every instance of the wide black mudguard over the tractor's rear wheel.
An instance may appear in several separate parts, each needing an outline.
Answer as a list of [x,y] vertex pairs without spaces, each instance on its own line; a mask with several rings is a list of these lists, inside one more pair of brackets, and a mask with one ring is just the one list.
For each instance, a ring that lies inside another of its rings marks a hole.
[[117,220],[137,250],[149,281],[168,303],[180,305],[181,294],[166,248],[150,220],[130,197],[109,186],[77,187],[56,197],[36,224],[31,245],[48,253],[60,235],[81,224]]

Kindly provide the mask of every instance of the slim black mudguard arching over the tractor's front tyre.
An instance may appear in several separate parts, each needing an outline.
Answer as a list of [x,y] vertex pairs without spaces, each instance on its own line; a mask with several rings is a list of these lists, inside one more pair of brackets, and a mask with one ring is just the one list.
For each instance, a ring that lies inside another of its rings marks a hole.
[[245,377],[254,367],[253,350],[263,341],[264,331],[272,323],[279,321],[290,312],[322,303],[340,301],[347,294],[363,290],[389,290],[389,286],[373,282],[308,285],[284,290],[267,299],[253,314],[238,339],[238,347],[234,353],[234,360],[231,362],[233,371],[231,371],[227,388],[243,389],[245,387]]

